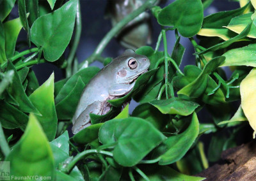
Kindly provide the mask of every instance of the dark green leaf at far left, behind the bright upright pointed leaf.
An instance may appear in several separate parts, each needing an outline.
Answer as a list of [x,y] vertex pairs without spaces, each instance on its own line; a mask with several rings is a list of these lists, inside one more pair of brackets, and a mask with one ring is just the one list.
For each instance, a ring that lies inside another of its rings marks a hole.
[[22,110],[23,112],[27,112],[27,113],[33,112],[33,113],[38,114],[39,113],[38,110],[28,99],[28,96],[26,95],[26,93],[24,91],[22,83],[20,82],[19,75],[18,75],[15,67],[13,66],[12,62],[8,61],[7,69],[14,71],[13,81],[7,89],[8,93],[19,104],[20,110]]

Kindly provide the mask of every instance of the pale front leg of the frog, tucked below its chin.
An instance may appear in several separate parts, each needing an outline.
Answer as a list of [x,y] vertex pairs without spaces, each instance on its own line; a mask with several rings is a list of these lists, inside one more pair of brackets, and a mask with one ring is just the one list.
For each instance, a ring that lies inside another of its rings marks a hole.
[[115,83],[113,84],[109,90],[108,93],[110,96],[124,96],[125,94],[128,94],[132,88],[134,87],[135,82],[129,83]]

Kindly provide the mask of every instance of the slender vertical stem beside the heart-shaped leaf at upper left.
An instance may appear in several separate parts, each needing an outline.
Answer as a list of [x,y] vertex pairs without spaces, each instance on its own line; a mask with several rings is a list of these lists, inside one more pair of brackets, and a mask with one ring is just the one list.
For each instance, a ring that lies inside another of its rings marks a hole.
[[72,62],[74,60],[74,56],[76,55],[76,50],[79,44],[79,40],[81,37],[82,24],[81,24],[81,9],[80,2],[77,0],[77,10],[76,10],[76,34],[74,38],[74,43],[70,50],[70,54],[67,59],[67,68],[66,68],[66,77],[70,77],[72,74]]

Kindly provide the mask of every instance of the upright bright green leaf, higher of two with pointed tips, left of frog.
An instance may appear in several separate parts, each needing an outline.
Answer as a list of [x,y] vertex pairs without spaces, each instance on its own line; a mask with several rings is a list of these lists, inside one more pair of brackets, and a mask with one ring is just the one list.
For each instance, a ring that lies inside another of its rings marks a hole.
[[[29,96],[29,100],[35,105],[41,115],[36,118],[42,125],[49,141],[54,140],[58,119],[54,105],[54,74],[48,78],[35,92]],[[47,105],[47,106],[45,106]]]

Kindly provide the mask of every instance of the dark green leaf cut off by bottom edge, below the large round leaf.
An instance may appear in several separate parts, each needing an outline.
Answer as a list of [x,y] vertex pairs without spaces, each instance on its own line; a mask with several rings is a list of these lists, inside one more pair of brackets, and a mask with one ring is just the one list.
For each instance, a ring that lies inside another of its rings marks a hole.
[[108,168],[100,175],[99,181],[103,180],[120,180],[122,175],[122,167],[114,168],[112,166],[108,166]]

